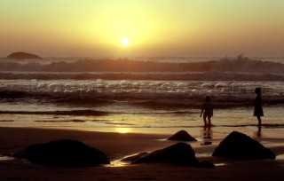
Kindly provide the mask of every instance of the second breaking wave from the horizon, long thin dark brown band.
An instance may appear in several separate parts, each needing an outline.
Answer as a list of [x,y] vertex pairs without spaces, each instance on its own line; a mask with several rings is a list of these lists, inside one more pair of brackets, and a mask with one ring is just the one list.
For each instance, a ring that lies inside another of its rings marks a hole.
[[[268,72],[268,71],[267,71]],[[284,72],[284,68],[281,73]],[[1,72],[0,79],[35,79],[35,80],[184,80],[184,81],[284,81],[283,74],[269,73],[237,73],[237,72],[153,72],[153,73],[54,73],[54,72]]]

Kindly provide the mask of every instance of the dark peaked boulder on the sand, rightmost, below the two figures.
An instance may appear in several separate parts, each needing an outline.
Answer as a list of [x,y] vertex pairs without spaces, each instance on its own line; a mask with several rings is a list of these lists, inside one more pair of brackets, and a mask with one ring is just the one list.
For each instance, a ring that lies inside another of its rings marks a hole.
[[271,150],[237,131],[233,131],[221,141],[212,156],[244,160],[275,159]]

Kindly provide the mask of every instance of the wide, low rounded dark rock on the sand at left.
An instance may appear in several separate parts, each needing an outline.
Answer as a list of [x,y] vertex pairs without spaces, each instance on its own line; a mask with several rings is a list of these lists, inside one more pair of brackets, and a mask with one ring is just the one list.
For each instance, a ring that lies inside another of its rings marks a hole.
[[28,146],[14,153],[14,156],[28,159],[31,163],[52,166],[87,167],[110,163],[105,153],[70,139]]

